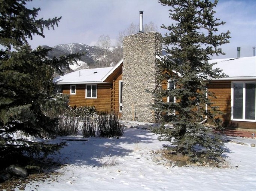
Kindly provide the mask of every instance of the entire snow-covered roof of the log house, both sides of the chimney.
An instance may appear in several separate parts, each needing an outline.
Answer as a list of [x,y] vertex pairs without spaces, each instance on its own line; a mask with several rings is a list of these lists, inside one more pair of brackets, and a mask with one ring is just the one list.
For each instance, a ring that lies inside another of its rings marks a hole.
[[[157,59],[161,59],[156,55]],[[230,59],[213,59],[209,60],[209,63],[217,63],[213,66],[213,69],[220,68],[223,73],[226,73],[228,77],[220,78],[218,80],[256,80],[256,57],[240,57]],[[123,63],[123,59],[114,66],[108,68],[94,68],[83,69],[71,73],[67,73],[64,76],[54,78],[54,82],[62,84],[98,84],[106,83],[104,80],[111,75],[116,68]]]

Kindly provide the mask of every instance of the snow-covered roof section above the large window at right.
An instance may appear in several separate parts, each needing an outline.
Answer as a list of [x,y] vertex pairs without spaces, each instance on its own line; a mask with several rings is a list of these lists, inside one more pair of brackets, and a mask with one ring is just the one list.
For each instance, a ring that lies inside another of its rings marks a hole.
[[240,57],[229,59],[213,59],[209,63],[217,63],[213,65],[213,69],[220,68],[228,77],[218,80],[256,80],[256,57]]

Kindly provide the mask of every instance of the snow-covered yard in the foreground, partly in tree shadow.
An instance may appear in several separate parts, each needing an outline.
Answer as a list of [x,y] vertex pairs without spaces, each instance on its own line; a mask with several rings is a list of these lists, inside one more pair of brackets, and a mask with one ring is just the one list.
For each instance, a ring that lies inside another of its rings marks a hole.
[[152,150],[159,150],[168,143],[159,142],[157,135],[141,128],[143,126],[147,124],[140,125],[140,128],[127,128],[119,139],[77,136],[50,141],[88,140],[66,141],[68,146],[61,149],[60,154],[51,156],[66,164],[57,170],[62,175],[44,182],[31,182],[25,190],[256,190],[256,147],[250,145],[256,140],[234,138],[234,141],[247,144],[225,143],[227,168],[167,167],[152,161]]

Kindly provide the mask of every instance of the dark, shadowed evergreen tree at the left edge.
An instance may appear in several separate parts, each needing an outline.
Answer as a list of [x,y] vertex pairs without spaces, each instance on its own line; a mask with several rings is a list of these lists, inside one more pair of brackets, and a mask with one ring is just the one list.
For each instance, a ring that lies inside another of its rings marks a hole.
[[[61,17],[37,20],[40,8],[27,9],[27,1],[0,0],[0,161],[5,165],[21,156],[47,155],[63,147],[64,143],[34,142],[15,134],[43,138],[42,132],[54,133],[58,118],[46,113],[56,106],[52,75],[80,56],[49,59],[49,49],[31,50],[27,39],[35,34],[45,37],[44,28],[54,29]],[[65,100],[59,95],[60,103]]]

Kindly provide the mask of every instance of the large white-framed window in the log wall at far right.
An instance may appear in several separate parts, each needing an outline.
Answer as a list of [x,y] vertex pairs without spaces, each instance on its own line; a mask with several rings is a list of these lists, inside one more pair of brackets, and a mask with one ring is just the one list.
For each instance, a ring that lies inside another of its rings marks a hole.
[[232,82],[231,120],[256,121],[256,82]]

